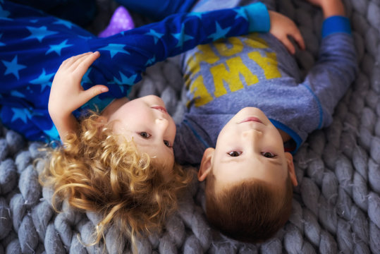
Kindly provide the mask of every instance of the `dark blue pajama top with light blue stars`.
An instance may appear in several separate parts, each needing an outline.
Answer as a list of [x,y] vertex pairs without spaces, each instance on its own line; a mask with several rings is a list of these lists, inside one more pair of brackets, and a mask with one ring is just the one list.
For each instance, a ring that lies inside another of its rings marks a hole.
[[[71,56],[99,51],[82,86],[104,84],[109,92],[94,104],[103,109],[112,99],[128,95],[142,71],[222,37],[269,30],[263,4],[210,11],[178,13],[159,23],[98,38],[90,32],[28,6],[0,0],[0,107],[4,126],[29,140],[56,140],[58,131],[47,109],[51,82],[61,63]],[[76,116],[78,116],[76,112]]]

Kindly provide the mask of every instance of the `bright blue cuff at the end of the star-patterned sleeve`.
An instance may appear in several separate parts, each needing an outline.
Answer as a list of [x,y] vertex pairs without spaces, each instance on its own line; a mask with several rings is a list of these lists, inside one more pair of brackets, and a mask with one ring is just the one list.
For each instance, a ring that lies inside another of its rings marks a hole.
[[265,4],[260,2],[243,6],[250,22],[249,32],[269,32],[271,20]]

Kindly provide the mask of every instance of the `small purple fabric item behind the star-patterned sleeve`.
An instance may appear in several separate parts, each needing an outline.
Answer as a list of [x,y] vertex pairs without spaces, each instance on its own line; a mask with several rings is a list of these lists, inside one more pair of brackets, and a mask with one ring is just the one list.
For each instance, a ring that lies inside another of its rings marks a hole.
[[132,28],[135,28],[132,17],[126,8],[119,6],[112,15],[109,25],[99,33],[98,37],[109,37]]

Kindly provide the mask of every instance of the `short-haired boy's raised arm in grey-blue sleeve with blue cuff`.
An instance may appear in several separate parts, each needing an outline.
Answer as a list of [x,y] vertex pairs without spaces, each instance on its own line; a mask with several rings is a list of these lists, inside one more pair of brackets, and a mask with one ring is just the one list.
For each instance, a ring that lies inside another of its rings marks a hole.
[[333,110],[343,97],[357,72],[357,59],[350,21],[344,17],[341,0],[308,0],[324,11],[319,59],[311,68],[302,85],[319,102],[320,127],[331,121]]

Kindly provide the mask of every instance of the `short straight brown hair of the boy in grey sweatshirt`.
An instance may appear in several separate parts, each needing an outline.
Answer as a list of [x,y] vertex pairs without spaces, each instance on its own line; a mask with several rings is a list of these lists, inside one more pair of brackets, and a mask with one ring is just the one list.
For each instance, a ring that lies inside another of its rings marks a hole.
[[288,176],[285,193],[259,180],[243,181],[215,193],[214,174],[207,177],[206,214],[222,234],[238,241],[260,243],[281,229],[290,217],[293,185]]

